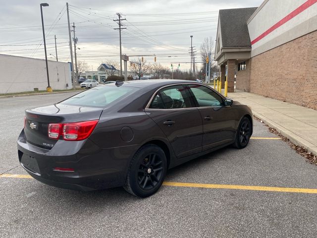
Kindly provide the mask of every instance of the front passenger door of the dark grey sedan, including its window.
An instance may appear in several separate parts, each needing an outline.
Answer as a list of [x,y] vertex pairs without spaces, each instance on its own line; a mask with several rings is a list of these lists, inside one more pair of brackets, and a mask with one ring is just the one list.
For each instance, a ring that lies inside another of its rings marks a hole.
[[224,106],[223,98],[201,84],[188,84],[188,90],[203,120],[203,150],[229,142],[235,137],[235,109]]

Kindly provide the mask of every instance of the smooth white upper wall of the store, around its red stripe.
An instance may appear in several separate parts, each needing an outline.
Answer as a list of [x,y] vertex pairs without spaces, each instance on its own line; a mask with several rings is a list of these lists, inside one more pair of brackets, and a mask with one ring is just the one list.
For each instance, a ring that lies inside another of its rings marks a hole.
[[317,30],[316,0],[265,0],[248,20],[251,43],[302,4],[312,3],[287,22],[252,44],[251,57]]

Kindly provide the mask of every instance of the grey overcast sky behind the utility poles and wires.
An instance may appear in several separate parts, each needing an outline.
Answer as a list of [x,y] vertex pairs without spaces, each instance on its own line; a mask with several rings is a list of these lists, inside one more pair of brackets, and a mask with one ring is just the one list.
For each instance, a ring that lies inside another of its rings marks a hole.
[[[170,66],[181,62],[190,67],[188,50],[200,52],[205,37],[215,39],[218,10],[259,6],[263,0],[69,0],[70,22],[78,38],[77,60],[90,69],[106,60],[119,60],[119,32],[116,13],[122,21],[122,53],[143,55],[148,62]],[[0,0],[0,54],[45,59],[40,3],[43,7],[48,59],[54,60],[56,35],[59,61],[70,61],[66,1]],[[52,54],[52,55],[50,55]],[[150,55],[150,56],[147,56]],[[130,57],[130,60],[138,57]],[[198,55],[196,61],[201,61]]]

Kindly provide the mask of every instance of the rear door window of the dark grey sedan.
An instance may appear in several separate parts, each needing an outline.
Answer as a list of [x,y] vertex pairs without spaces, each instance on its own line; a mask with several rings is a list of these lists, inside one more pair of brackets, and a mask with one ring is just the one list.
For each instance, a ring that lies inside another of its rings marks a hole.
[[188,93],[182,85],[170,86],[159,90],[151,102],[151,109],[179,109],[193,107]]

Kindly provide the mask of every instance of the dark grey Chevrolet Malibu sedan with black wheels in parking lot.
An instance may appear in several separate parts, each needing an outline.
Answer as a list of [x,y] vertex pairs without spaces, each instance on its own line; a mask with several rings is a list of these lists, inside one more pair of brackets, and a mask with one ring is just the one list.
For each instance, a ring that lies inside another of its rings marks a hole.
[[167,169],[219,148],[247,146],[250,108],[195,81],[135,80],[101,85],[25,111],[21,166],[62,188],[123,186],[147,197]]

